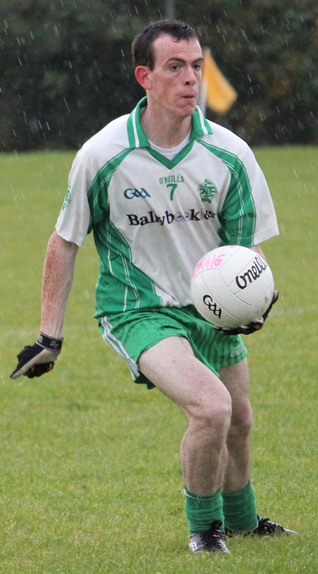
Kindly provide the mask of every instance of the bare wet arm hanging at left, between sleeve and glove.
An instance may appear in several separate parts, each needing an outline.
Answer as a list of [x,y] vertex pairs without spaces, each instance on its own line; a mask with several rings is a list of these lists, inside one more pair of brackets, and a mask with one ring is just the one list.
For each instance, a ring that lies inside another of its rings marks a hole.
[[57,233],[49,238],[42,282],[41,332],[61,338],[78,246]]

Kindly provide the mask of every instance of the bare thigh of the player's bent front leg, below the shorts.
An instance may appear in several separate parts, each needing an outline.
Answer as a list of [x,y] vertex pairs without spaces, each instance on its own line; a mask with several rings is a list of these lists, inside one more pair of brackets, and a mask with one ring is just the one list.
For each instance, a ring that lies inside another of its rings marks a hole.
[[[219,378],[194,356],[189,341],[170,336],[139,357],[139,369],[188,415],[228,411],[230,395]],[[204,415],[203,415],[204,416]]]

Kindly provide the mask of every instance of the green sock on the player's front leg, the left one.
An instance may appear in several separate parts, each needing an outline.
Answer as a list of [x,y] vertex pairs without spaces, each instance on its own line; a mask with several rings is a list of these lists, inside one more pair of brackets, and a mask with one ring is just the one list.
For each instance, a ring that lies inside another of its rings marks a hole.
[[222,488],[212,496],[198,496],[184,488],[185,513],[190,532],[202,532],[211,527],[214,520],[220,520],[224,531]]

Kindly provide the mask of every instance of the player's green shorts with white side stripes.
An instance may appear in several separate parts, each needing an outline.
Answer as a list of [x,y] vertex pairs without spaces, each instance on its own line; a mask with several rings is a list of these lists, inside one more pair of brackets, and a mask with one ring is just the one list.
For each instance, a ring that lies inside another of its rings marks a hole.
[[169,336],[185,337],[194,355],[217,376],[220,368],[247,355],[239,335],[216,331],[192,305],[111,313],[100,319],[99,329],[104,341],[125,359],[134,381],[145,383],[148,389],[155,385],[140,373],[139,356]]

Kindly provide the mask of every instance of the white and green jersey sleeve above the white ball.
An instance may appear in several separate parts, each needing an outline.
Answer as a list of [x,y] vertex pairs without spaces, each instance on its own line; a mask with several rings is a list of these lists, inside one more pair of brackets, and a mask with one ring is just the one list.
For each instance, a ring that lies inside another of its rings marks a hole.
[[228,168],[230,186],[218,213],[222,242],[252,247],[278,235],[269,186],[249,146],[228,162]]

